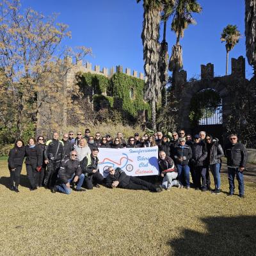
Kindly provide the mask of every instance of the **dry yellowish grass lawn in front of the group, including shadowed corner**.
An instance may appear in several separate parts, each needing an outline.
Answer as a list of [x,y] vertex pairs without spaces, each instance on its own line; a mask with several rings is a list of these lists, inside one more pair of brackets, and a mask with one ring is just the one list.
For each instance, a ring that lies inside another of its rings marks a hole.
[[13,193],[0,160],[0,255],[256,255],[255,183],[245,182],[243,199],[227,196],[226,175],[220,195],[104,187],[63,195],[29,191],[22,174]]

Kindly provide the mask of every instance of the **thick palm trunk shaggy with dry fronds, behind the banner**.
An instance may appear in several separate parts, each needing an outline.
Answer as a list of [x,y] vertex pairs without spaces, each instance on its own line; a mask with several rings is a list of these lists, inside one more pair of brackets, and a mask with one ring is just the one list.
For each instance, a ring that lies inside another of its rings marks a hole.
[[[137,0],[139,3],[141,0]],[[160,12],[163,8],[161,0],[143,1],[143,60],[145,70],[145,99],[150,100],[152,112],[152,127],[156,129],[156,102],[161,95],[161,81],[159,79],[159,26]]]

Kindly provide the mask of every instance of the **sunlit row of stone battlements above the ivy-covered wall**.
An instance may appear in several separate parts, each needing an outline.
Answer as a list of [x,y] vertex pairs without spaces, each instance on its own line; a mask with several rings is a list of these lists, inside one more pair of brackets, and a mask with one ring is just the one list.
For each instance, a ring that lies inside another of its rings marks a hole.
[[99,74],[99,75],[103,75],[106,77],[112,77],[113,74],[120,72],[120,73],[124,73],[127,74],[127,76],[133,76],[133,77],[137,77],[140,79],[144,79],[144,74],[143,73],[139,73],[139,77],[138,77],[138,71],[136,70],[132,70],[131,72],[131,68],[125,68],[125,72],[123,72],[123,67],[118,65],[116,67],[111,67],[111,68],[106,68],[103,67],[102,70],[100,70],[100,66],[99,65],[95,65],[94,68],[92,67],[92,63],[86,61],[85,65],[83,64],[83,60],[77,60],[75,62],[73,62],[72,58],[70,57],[65,57],[64,61],[63,61],[63,65],[65,65],[65,67],[68,67],[70,69],[71,72],[90,72],[92,74]]

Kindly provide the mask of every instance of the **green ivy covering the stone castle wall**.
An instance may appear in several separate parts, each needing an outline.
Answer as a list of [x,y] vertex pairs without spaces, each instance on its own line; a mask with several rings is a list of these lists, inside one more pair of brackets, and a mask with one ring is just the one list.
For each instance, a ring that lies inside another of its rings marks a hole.
[[117,72],[109,79],[88,72],[77,74],[77,81],[84,96],[94,92],[92,100],[95,111],[102,108],[115,109],[131,122],[136,122],[140,118],[138,113],[143,110],[150,116],[150,105],[143,99],[145,82],[137,77]]

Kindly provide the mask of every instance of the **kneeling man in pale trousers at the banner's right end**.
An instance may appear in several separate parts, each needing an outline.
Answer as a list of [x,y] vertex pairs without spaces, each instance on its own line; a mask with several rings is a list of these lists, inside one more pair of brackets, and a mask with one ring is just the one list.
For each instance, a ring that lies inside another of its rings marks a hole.
[[178,172],[171,157],[166,156],[165,152],[162,150],[159,152],[159,171],[161,172],[161,177],[163,177],[162,187],[166,190],[170,190],[172,186],[177,186],[180,188],[178,177]]

